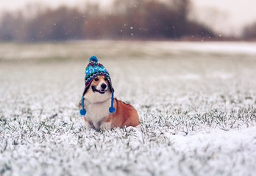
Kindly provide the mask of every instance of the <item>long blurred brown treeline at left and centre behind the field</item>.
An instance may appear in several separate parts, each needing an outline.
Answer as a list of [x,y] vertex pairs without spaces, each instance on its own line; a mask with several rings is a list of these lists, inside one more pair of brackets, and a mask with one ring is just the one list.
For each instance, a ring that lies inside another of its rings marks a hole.
[[43,41],[85,39],[214,38],[202,24],[188,21],[188,0],[116,0],[111,12],[97,4],[81,8],[41,10],[33,17],[21,12],[1,19],[0,40]]

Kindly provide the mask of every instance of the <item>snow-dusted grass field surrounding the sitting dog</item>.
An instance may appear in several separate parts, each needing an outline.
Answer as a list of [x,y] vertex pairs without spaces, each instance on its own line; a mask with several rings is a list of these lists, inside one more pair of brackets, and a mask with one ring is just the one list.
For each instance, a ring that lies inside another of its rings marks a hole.
[[[86,129],[91,55],[141,126]],[[0,175],[255,175],[256,43],[0,43]]]

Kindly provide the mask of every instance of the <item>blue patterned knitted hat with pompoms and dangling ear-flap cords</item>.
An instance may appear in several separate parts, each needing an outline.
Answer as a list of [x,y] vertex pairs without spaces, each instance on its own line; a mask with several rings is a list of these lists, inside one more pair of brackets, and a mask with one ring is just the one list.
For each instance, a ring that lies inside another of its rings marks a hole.
[[114,89],[112,87],[110,73],[107,72],[107,69],[100,63],[98,63],[98,59],[96,56],[91,56],[89,59],[89,64],[85,68],[85,91],[82,94],[82,109],[80,110],[81,115],[86,114],[86,110],[84,107],[84,96],[85,92],[89,89],[90,83],[93,81],[93,78],[96,76],[105,76],[107,78],[108,83],[110,84],[110,89],[112,91],[112,97],[111,97],[111,106],[110,106],[110,113],[113,113],[115,111],[114,107]]

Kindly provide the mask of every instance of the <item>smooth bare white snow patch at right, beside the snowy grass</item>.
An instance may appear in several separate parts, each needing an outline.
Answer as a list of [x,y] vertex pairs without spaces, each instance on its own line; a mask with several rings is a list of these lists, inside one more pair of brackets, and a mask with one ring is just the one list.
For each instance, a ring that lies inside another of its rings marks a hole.
[[205,150],[223,148],[234,153],[249,150],[249,153],[256,154],[256,127],[230,131],[208,129],[189,136],[168,137],[174,140],[174,145],[180,151],[198,150],[205,153]]

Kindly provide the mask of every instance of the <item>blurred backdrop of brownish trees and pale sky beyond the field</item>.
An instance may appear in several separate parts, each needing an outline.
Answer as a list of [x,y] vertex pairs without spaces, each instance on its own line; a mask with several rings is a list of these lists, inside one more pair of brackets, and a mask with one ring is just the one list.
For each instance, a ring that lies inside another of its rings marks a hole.
[[9,0],[0,40],[256,40],[254,0]]

